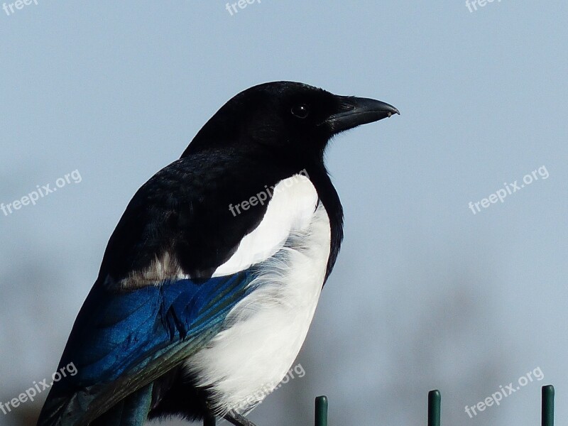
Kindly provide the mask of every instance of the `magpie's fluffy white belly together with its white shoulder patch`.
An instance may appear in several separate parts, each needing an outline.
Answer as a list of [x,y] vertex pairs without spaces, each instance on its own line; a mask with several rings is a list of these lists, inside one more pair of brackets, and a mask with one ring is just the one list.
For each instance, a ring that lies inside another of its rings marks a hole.
[[221,275],[258,266],[256,290],[229,312],[230,326],[185,362],[197,384],[211,388],[218,415],[246,413],[292,366],[320,297],[330,235],[315,187],[295,175],[278,183],[261,224],[217,269]]

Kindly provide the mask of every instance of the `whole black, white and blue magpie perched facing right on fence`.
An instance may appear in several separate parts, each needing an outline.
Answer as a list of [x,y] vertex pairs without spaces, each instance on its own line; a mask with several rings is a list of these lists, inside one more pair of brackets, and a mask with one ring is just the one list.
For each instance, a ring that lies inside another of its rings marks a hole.
[[133,195],[38,426],[219,417],[251,426],[305,341],[343,239],[338,133],[400,114],[300,82],[229,99]]

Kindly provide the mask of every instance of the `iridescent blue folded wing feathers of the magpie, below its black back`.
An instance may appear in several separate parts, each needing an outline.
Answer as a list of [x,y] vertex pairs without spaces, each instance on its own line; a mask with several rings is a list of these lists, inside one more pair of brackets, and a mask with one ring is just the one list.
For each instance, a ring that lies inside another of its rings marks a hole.
[[249,270],[135,290],[95,284],[60,361],[77,373],[53,383],[38,426],[87,425],[131,394],[148,405],[146,386],[207,344],[252,280]]

